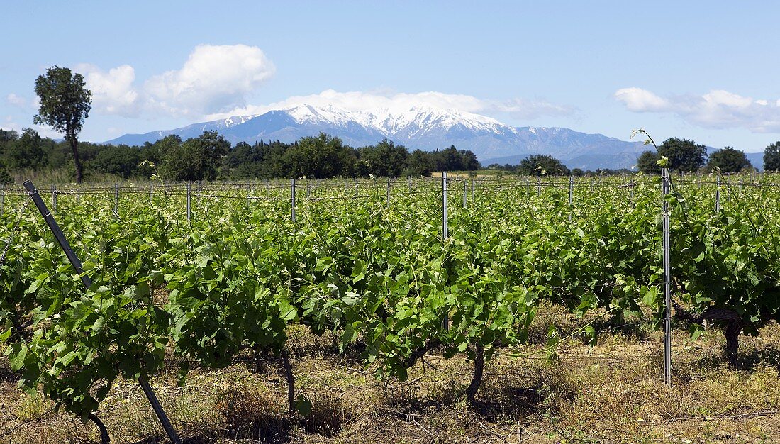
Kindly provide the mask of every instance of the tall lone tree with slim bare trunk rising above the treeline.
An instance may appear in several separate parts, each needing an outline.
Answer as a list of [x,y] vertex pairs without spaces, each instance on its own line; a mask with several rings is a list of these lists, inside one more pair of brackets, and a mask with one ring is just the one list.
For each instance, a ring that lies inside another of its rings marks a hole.
[[35,80],[35,94],[41,101],[41,108],[33,121],[65,133],[65,140],[73,151],[77,183],[83,181],[78,136],[92,109],[92,93],[85,84],[81,74],[73,74],[70,69],[60,66],[52,66]]

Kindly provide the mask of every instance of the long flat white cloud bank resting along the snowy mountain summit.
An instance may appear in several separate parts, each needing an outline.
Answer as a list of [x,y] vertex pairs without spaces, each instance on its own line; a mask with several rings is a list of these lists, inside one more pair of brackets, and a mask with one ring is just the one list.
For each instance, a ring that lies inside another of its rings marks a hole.
[[299,105],[318,107],[332,105],[348,111],[368,111],[382,108],[405,111],[413,106],[427,105],[433,108],[457,110],[460,112],[509,113],[523,119],[534,119],[542,115],[569,115],[574,112],[573,108],[553,105],[545,101],[524,101],[521,99],[510,101],[484,100],[465,94],[445,94],[436,91],[388,94],[379,91],[338,92],[325,90],[319,94],[293,96],[268,105],[246,105],[232,108],[226,112],[208,115],[207,118],[222,119],[232,115],[262,114],[275,109],[289,109]]

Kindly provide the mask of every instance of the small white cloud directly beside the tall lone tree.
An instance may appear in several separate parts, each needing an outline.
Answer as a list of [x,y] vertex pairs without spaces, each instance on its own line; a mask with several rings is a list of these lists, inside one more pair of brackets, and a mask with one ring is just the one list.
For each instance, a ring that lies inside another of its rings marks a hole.
[[133,86],[136,70],[122,65],[104,71],[82,63],[75,70],[83,74],[87,89],[92,91],[92,107],[101,114],[134,116],[140,111],[140,94]]

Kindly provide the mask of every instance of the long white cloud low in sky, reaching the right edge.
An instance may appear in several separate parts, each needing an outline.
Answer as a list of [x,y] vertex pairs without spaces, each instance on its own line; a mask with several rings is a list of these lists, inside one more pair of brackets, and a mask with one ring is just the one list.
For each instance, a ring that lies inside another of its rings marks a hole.
[[780,100],[753,99],[723,90],[662,98],[637,87],[622,88],[615,92],[615,98],[629,111],[675,114],[704,128],[780,133]]

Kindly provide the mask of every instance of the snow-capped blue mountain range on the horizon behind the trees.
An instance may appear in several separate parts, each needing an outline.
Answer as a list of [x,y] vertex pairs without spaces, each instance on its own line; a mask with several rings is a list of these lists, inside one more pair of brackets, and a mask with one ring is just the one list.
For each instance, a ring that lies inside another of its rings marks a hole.
[[236,115],[195,123],[176,130],[126,134],[109,144],[138,145],[170,134],[182,139],[216,130],[233,144],[258,140],[292,142],[324,132],[353,147],[375,144],[385,137],[410,150],[431,151],[455,145],[471,150],[484,164],[516,163],[531,154],[560,158],[569,168],[623,168],[636,163],[646,147],[601,134],[578,133],[568,128],[512,127],[484,115],[416,105],[410,108],[347,110],[332,105]]

